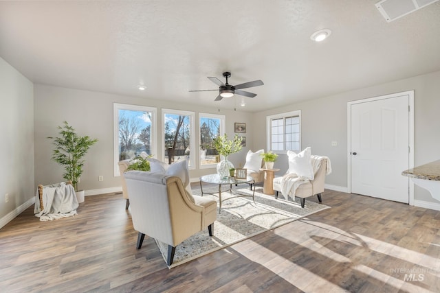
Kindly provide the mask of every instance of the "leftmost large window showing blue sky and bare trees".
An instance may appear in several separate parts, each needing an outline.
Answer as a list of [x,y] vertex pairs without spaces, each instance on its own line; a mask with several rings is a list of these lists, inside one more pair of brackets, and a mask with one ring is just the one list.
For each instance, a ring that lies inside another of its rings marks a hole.
[[156,108],[113,104],[114,175],[120,176],[118,161],[157,154]]

